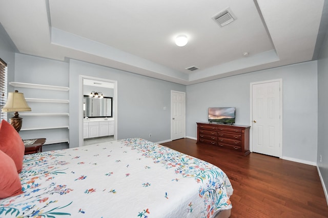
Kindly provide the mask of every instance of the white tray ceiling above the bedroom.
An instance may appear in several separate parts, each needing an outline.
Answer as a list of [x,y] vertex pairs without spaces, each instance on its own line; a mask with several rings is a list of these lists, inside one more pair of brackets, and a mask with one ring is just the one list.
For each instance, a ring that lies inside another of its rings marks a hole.
[[[190,85],[312,60],[324,0],[0,0],[0,5],[0,22],[20,53]],[[236,20],[220,27],[212,17],[227,8]],[[174,38],[181,34],[189,42],[178,47]],[[190,66],[199,69],[185,69]]]

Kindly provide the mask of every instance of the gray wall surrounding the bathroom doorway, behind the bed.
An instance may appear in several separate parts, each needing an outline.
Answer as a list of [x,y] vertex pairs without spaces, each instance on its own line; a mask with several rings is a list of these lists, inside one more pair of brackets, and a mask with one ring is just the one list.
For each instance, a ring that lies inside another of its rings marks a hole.
[[157,142],[171,138],[171,90],[186,92],[186,86],[76,60],[70,61],[69,71],[71,148],[78,146],[79,75],[117,81],[117,139],[141,137]]

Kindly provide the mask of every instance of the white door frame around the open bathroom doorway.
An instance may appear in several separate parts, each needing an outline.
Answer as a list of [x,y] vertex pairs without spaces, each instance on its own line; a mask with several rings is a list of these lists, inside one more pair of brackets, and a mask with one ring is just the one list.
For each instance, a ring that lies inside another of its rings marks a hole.
[[104,78],[98,78],[98,77],[91,77],[91,76],[85,76],[85,75],[79,75],[79,98],[78,98],[78,144],[79,147],[83,146],[84,140],[83,140],[83,80],[94,80],[94,81],[103,81],[108,83],[114,84],[114,94],[113,94],[113,118],[114,118],[114,140],[117,140],[117,81],[116,80],[109,80]]

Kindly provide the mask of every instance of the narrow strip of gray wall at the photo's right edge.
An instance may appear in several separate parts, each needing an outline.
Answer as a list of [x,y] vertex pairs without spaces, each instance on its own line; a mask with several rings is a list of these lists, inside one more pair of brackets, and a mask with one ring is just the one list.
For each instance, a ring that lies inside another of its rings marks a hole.
[[[328,189],[328,36],[318,60],[318,157],[317,164],[325,190]],[[321,155],[321,162],[320,162]]]

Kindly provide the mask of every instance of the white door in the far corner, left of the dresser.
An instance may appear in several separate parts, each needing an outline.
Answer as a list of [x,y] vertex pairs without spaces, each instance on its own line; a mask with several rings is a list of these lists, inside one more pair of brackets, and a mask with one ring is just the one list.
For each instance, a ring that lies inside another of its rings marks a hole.
[[171,140],[186,137],[186,93],[171,91]]

